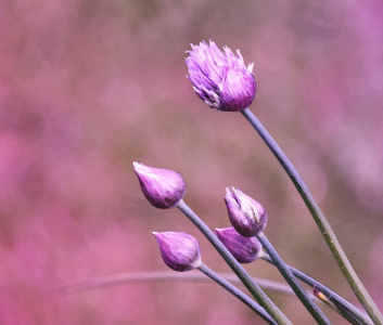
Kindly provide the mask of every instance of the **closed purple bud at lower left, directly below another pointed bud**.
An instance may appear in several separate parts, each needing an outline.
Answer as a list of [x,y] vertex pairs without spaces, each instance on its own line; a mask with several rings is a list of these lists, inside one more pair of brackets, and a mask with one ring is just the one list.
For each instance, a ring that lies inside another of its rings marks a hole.
[[170,269],[184,272],[201,263],[199,242],[187,233],[152,233],[158,242],[161,256]]

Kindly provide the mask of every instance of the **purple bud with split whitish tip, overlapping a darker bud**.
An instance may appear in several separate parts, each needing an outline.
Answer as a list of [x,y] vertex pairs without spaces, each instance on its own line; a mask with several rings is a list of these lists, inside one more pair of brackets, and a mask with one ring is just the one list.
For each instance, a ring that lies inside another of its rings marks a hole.
[[233,227],[244,237],[253,237],[261,233],[267,223],[265,208],[240,190],[226,188],[225,203]]

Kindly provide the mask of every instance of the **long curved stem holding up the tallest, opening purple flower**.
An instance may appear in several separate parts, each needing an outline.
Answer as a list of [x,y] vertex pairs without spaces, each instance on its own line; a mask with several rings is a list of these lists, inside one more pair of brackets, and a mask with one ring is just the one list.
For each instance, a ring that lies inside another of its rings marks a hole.
[[383,316],[379,311],[376,304],[371,299],[370,295],[367,292],[362,283],[360,282],[358,275],[355,273],[352,264],[349,263],[345,252],[343,251],[341,244],[337,242],[336,236],[331,229],[330,223],[327,221],[324,214],[320,210],[318,204],[314,199],[314,196],[309,192],[305,182],[291,164],[286,155],[282,152],[276,141],[267,132],[260,121],[254,116],[254,114],[248,109],[241,110],[241,114],[250,121],[254,129],[258,132],[261,139],[265,141],[267,146],[275,154],[279,162],[282,165],[283,169],[289,174],[290,179],[293,181],[296,190],[299,192],[303,200],[305,202],[307,208],[309,209],[314,220],[316,221],[319,230],[321,231],[325,243],[330,247],[331,252],[335,257],[335,260],[341,268],[344,276],[348,281],[348,284],[353,288],[355,295],[359,299],[360,303],[365,308],[366,312],[371,317],[374,325],[383,325]]

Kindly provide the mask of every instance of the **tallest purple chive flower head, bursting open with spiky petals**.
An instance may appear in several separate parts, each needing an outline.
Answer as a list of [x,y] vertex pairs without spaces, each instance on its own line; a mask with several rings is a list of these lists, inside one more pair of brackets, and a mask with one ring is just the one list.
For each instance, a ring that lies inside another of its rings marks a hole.
[[235,56],[227,47],[225,54],[215,42],[201,42],[189,51],[187,65],[195,93],[210,108],[239,112],[246,108],[255,96],[253,64],[246,68],[239,50]]

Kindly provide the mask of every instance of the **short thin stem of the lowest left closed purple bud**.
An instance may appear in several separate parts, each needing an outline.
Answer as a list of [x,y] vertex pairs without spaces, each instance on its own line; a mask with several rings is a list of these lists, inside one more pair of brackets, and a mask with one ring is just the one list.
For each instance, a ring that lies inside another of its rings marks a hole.
[[230,282],[226,281],[224,277],[219,276],[217,273],[213,272],[209,268],[207,268],[204,263],[201,262],[200,266],[197,266],[202,273],[212,278],[214,282],[219,284],[224,289],[228,290],[231,295],[240,299],[244,304],[255,311],[260,317],[263,317],[268,324],[278,325],[270,315],[263,309],[258,303],[254,300],[250,299],[245,294],[243,294],[240,289],[234,287]]

